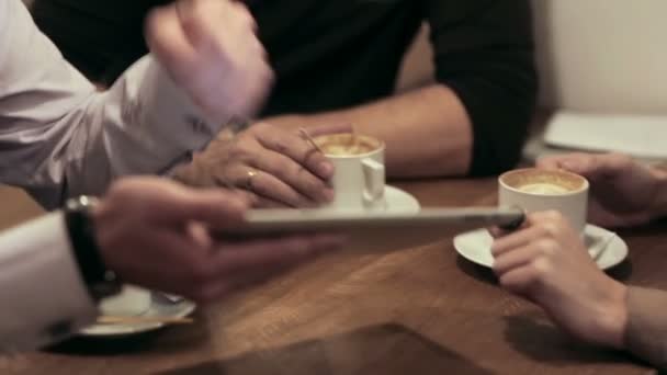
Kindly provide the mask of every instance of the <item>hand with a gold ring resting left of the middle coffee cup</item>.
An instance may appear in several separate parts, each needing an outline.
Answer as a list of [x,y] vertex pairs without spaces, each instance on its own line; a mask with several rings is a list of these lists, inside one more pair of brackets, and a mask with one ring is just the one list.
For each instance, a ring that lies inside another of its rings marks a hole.
[[[318,127],[312,137],[350,132],[349,125]],[[240,189],[255,207],[315,207],[334,198],[334,164],[297,132],[259,123],[234,137],[218,138],[177,178],[189,184],[206,180]]]

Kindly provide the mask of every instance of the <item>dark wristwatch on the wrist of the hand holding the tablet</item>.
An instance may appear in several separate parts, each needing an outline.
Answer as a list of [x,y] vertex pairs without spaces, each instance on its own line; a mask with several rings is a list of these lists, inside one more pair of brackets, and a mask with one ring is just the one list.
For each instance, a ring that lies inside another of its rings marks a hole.
[[64,214],[79,272],[91,297],[99,302],[121,293],[123,284],[115,272],[106,268],[98,247],[92,217],[92,209],[97,204],[97,198],[82,195],[68,200]]

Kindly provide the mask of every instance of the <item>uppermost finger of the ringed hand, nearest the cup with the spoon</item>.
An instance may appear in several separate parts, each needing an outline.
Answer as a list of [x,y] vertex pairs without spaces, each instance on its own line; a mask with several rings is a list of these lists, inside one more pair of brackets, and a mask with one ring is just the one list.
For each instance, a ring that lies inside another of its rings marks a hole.
[[263,147],[289,157],[319,179],[326,181],[334,175],[334,164],[307,139],[297,134],[267,126],[258,128],[257,135]]

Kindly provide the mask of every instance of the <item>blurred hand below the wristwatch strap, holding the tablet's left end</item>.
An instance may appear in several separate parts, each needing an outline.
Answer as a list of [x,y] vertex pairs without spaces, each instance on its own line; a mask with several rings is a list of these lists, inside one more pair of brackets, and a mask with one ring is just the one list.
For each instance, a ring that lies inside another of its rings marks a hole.
[[102,258],[122,280],[200,303],[341,246],[327,235],[226,241],[210,234],[238,226],[247,208],[240,194],[131,178],[111,188],[93,218]]

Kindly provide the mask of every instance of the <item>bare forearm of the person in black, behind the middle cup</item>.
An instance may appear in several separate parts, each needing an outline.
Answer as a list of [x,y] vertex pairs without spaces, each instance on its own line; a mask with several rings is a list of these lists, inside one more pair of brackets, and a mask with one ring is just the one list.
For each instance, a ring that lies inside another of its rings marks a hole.
[[462,175],[471,166],[470,118],[454,92],[441,84],[352,109],[267,121],[286,127],[352,124],[354,132],[386,143],[393,177]]

